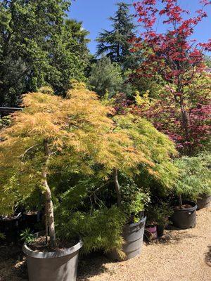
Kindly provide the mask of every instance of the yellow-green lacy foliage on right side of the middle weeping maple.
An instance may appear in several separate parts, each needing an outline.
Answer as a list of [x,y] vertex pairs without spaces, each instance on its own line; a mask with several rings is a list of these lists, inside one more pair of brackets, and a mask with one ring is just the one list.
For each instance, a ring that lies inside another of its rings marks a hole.
[[146,181],[155,180],[165,188],[171,189],[177,179],[178,169],[171,159],[177,152],[170,138],[160,133],[146,119],[134,115],[115,117],[115,122],[117,130],[127,130],[136,148],[153,163],[150,169],[147,169],[147,164],[140,165],[139,174],[145,174]]

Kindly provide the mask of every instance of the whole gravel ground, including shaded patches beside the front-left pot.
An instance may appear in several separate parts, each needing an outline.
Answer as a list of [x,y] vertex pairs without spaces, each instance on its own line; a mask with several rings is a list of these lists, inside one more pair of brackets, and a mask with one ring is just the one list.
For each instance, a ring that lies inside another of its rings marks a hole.
[[[0,281],[27,281],[20,249],[0,247]],[[196,228],[167,230],[129,261],[80,260],[77,281],[211,281],[211,208],[197,211]]]

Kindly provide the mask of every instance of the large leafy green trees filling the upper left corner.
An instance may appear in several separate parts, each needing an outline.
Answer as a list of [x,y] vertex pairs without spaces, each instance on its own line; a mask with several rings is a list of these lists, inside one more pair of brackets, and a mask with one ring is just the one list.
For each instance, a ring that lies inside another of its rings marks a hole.
[[65,21],[70,2],[0,1],[1,106],[17,105],[22,93],[46,84],[64,93],[70,79],[84,79],[87,32]]

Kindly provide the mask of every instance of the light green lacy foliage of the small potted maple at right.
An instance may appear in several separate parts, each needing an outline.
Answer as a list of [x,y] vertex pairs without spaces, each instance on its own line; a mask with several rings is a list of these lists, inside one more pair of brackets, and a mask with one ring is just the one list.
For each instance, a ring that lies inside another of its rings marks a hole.
[[177,195],[184,195],[196,200],[200,195],[211,194],[211,155],[182,157],[175,161],[180,171],[179,181],[175,186]]

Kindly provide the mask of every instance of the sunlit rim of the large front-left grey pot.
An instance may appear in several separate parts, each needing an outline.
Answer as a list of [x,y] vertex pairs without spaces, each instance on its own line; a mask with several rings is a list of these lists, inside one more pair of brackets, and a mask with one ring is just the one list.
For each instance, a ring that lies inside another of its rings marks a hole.
[[[36,233],[39,235],[39,233]],[[43,252],[43,251],[33,251],[30,249],[30,247],[27,246],[26,242],[23,244],[23,252],[27,256],[31,256],[35,259],[56,259],[61,258],[63,256],[69,256],[70,254],[75,253],[76,251],[79,251],[79,249],[83,246],[82,239],[79,237],[79,242],[72,246],[71,248],[65,248],[62,251],[49,251],[49,252]]]

